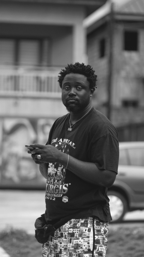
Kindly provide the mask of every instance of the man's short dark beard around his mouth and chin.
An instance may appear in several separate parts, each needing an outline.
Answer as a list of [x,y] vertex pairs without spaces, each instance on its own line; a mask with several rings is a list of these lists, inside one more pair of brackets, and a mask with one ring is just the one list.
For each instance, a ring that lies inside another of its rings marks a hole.
[[79,112],[79,111],[82,111],[88,104],[89,104],[89,94],[87,97],[83,98],[81,100],[81,102],[79,101],[76,101],[74,104],[72,103],[68,103],[67,101],[65,101],[65,99],[61,98],[62,99],[62,102],[64,104],[64,106],[66,107],[67,111],[68,112]]

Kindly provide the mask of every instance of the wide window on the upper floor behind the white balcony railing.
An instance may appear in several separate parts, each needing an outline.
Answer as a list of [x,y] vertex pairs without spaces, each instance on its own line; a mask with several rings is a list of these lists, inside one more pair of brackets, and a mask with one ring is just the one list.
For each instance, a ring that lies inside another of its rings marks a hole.
[[0,65],[47,66],[49,39],[0,39]]

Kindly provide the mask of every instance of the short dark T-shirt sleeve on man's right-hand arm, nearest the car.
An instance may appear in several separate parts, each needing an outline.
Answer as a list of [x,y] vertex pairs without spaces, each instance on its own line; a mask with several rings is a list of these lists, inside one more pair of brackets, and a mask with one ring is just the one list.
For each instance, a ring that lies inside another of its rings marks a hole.
[[113,136],[107,134],[98,140],[92,140],[90,159],[99,169],[118,173],[119,143]]

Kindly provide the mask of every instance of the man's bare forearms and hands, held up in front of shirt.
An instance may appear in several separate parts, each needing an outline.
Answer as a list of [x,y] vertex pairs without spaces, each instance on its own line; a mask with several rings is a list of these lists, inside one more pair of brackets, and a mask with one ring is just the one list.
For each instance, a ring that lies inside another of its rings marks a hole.
[[[115,181],[116,172],[114,171],[100,170],[95,165],[95,163],[80,161],[72,156],[69,156],[69,159],[68,159],[68,155],[66,153],[59,151],[58,149],[56,149],[54,146],[51,146],[51,145],[43,146],[43,145],[35,144],[34,146],[40,147],[41,149],[42,160],[40,160],[40,162],[42,164],[40,165],[40,172],[46,179],[47,179],[49,162],[50,163],[58,162],[64,167],[67,167],[68,170],[73,172],[81,179],[92,184],[95,184],[98,186],[110,187],[113,185]],[[35,157],[36,152],[37,152],[37,149],[32,151],[32,158]]]

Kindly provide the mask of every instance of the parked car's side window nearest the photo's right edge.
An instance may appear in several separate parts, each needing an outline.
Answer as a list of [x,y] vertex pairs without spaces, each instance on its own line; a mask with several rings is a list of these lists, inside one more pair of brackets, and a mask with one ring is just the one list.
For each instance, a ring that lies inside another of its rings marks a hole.
[[131,165],[144,166],[144,148],[128,149]]

